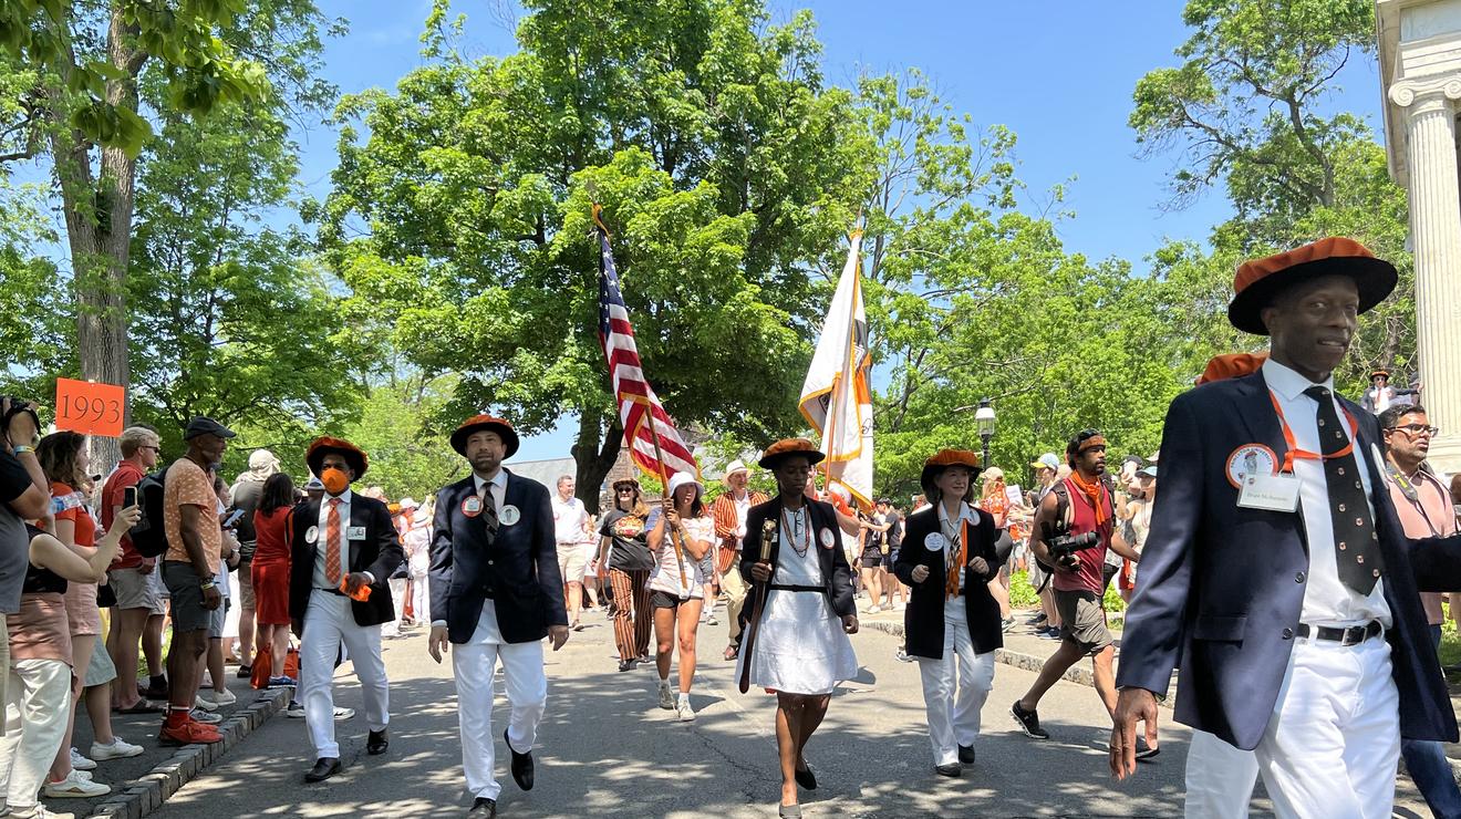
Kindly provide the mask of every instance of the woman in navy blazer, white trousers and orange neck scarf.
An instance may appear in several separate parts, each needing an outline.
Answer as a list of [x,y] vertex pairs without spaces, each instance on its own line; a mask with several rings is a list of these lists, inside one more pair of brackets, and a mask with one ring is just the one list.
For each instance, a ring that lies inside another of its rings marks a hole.
[[909,515],[906,546],[893,565],[913,590],[903,635],[919,664],[941,777],[958,777],[974,762],[979,712],[995,683],[995,650],[1004,645],[999,601],[989,593],[1004,562],[995,518],[970,505],[979,469],[979,455],[967,450],[941,450],[923,463],[931,505]]

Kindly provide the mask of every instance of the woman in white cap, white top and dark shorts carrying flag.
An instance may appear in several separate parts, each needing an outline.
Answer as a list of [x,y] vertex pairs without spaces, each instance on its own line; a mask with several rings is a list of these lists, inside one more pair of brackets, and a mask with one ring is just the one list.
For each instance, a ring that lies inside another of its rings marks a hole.
[[[655,612],[655,642],[659,670],[659,707],[675,711],[681,721],[695,718],[690,707],[690,683],[695,679],[695,631],[704,604],[703,561],[716,537],[716,521],[700,501],[703,489],[694,474],[676,472],[669,479],[669,501],[649,514],[649,550],[655,568],[649,575],[649,604]],[[679,543],[676,552],[675,545]],[[679,644],[679,698],[669,689],[669,660]]]

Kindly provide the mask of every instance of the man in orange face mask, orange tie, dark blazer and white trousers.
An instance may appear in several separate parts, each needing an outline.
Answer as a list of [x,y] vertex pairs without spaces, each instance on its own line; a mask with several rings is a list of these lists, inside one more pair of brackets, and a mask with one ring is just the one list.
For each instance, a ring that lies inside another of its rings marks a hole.
[[340,771],[333,685],[340,644],[361,680],[370,728],[365,750],[380,755],[390,745],[380,625],[396,616],[387,581],[405,552],[386,504],[351,492],[351,483],[370,466],[359,447],[320,438],[310,444],[305,463],[320,476],[326,493],[292,512],[289,619],[300,635],[298,699],[316,752],[314,768],[304,778],[320,783]]

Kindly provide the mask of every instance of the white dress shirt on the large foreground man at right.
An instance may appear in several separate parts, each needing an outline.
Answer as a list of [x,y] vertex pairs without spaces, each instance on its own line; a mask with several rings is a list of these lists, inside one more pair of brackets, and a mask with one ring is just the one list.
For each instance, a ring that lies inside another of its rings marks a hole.
[[[1322,384],[1313,384],[1293,369],[1268,359],[1264,362],[1264,381],[1278,406],[1283,407],[1289,429],[1300,450],[1321,453],[1319,444],[1319,404],[1303,391],[1309,387],[1325,387],[1334,394],[1334,377]],[[1334,399],[1331,399],[1334,400]],[[1335,401],[1334,413],[1340,418],[1340,426],[1346,435],[1353,435],[1344,407]],[[1278,453],[1280,461],[1283,453]],[[1365,485],[1365,502],[1370,508],[1370,520],[1375,520],[1375,488],[1370,486],[1369,460],[1370,453],[1365,447],[1354,447],[1354,460],[1359,466],[1359,480]],[[1315,626],[1350,626],[1369,620],[1379,620],[1389,628],[1389,604],[1385,603],[1385,578],[1375,582],[1369,594],[1360,594],[1344,585],[1340,580],[1340,568],[1334,558],[1334,518],[1330,514],[1330,485],[1324,476],[1324,461],[1318,458],[1294,458],[1293,473],[1299,479],[1299,511],[1303,515],[1303,528],[1309,543],[1309,578],[1303,594],[1303,613],[1300,620]]]

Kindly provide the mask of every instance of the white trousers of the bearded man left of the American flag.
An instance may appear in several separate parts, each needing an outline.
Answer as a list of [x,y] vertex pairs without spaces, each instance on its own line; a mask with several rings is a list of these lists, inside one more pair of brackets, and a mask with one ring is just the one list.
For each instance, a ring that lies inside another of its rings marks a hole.
[[462,726],[462,768],[466,790],[473,797],[497,799],[503,785],[494,777],[497,765],[492,733],[492,672],[503,661],[507,689],[507,742],[519,753],[538,742],[538,723],[548,705],[548,676],[543,674],[543,644],[506,642],[497,629],[497,607],[482,604],[472,639],[451,647],[451,672],[457,683],[457,711]]

